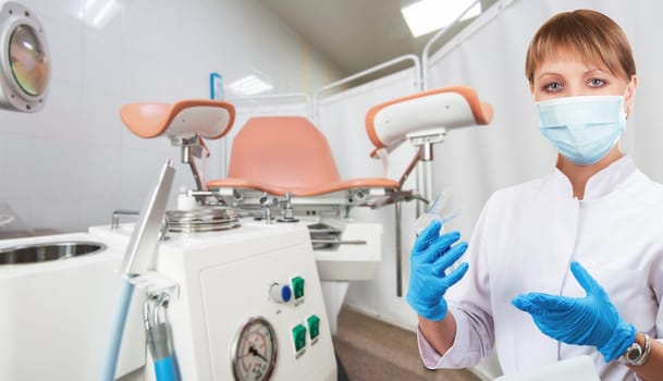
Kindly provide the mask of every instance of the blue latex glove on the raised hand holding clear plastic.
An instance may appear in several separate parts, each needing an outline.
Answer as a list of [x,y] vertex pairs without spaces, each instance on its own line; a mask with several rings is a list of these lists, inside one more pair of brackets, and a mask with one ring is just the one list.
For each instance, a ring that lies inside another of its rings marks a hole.
[[449,275],[451,267],[467,249],[466,243],[452,246],[461,238],[458,232],[440,235],[439,221],[431,222],[419,234],[410,254],[409,287],[407,304],[426,319],[440,321],[446,316],[444,293],[467,272],[468,265],[461,263]]

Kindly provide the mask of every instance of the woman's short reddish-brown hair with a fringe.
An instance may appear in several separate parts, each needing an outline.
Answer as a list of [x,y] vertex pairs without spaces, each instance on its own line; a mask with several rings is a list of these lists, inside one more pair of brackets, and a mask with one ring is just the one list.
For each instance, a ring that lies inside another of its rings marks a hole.
[[541,25],[525,59],[525,75],[530,85],[541,62],[560,52],[578,54],[587,63],[602,63],[613,75],[626,81],[636,74],[636,62],[624,30],[597,11],[563,12]]

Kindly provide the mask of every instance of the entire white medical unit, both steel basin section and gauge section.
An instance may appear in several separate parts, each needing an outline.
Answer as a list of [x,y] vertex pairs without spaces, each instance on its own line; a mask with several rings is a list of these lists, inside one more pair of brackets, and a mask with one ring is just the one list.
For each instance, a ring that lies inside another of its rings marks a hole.
[[[170,232],[158,244],[151,271],[135,279],[118,378],[152,379],[144,309],[165,297],[167,315],[151,321],[170,322],[177,379],[336,379],[308,231],[229,217],[217,231]],[[2,242],[0,379],[100,379],[134,231]]]

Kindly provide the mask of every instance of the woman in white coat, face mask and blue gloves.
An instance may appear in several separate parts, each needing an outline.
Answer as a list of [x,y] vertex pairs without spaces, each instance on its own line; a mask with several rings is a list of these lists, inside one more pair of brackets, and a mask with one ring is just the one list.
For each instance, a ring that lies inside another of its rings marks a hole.
[[[406,299],[429,368],[505,373],[590,356],[601,380],[663,380],[663,186],[618,138],[638,78],[623,30],[589,10],[535,35],[526,76],[554,173],[496,192],[468,248],[431,223],[412,253]],[[637,374],[637,378],[636,378]]]

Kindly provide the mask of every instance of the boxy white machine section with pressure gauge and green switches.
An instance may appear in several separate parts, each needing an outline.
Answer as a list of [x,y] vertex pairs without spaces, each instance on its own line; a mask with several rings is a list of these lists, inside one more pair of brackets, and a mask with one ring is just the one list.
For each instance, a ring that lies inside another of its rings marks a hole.
[[[127,320],[169,323],[168,355],[179,373],[173,379],[336,380],[306,228],[238,220],[232,213],[216,221],[217,229],[208,230],[207,222],[205,231],[169,232],[158,244],[154,271],[135,280],[135,295],[146,300],[142,309],[130,311]],[[194,222],[192,229],[196,226],[200,224]],[[89,230],[119,249],[127,246],[134,232],[134,224]],[[145,312],[158,312],[150,307],[158,300],[167,303],[163,316],[150,320]],[[139,332],[125,330],[121,352],[145,352]],[[150,351],[151,361],[157,356]],[[121,364],[120,374],[138,368],[140,379],[150,379],[152,369],[145,362]]]

